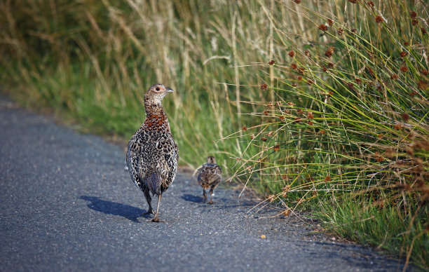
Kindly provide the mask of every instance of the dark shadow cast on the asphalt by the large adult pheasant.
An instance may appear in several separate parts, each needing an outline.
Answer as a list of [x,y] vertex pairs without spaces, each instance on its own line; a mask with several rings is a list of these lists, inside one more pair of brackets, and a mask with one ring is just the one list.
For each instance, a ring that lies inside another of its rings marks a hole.
[[142,213],[146,212],[145,210],[135,208],[130,205],[102,200],[97,196],[81,196],[80,198],[91,202],[88,204],[88,208],[91,210],[104,212],[107,215],[120,215],[121,217],[125,217],[126,219],[136,223],[139,223],[138,218],[142,217]]

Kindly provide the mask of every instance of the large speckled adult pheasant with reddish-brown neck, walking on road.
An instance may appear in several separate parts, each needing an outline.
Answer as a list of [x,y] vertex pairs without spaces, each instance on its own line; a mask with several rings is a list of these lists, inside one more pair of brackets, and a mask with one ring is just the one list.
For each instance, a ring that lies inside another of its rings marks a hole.
[[[159,222],[161,196],[175,180],[179,160],[177,144],[161,104],[165,95],[172,92],[162,84],[155,84],[147,90],[144,95],[146,118],[128,142],[128,170],[132,182],[143,191],[149,204],[144,215],[155,214],[152,222]],[[158,196],[156,212],[152,209],[150,193]]]

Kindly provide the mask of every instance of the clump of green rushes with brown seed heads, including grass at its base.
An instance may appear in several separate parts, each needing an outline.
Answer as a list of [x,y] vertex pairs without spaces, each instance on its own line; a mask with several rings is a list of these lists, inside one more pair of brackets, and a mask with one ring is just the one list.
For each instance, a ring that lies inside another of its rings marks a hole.
[[286,103],[270,110],[278,118],[261,119],[255,133],[273,131],[269,146],[249,142],[233,178],[254,181],[266,193],[261,205],[284,205],[278,216],[319,207],[327,229],[428,268],[429,40],[411,11],[428,7],[407,3],[380,14],[372,1],[348,0],[347,18],[344,7],[303,9],[312,46],[274,25],[275,40],[305,54],[282,50],[279,58],[294,57],[290,69],[266,72]]

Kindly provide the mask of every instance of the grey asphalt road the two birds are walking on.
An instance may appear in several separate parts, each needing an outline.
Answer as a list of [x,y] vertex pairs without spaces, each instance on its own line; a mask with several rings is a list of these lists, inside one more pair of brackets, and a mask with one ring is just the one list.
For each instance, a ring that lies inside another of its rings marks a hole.
[[402,270],[368,247],[312,235],[297,217],[263,218],[273,208],[247,213],[255,202],[234,189],[205,205],[184,172],[163,195],[163,222],[147,222],[124,147],[4,98],[0,131],[1,271]]

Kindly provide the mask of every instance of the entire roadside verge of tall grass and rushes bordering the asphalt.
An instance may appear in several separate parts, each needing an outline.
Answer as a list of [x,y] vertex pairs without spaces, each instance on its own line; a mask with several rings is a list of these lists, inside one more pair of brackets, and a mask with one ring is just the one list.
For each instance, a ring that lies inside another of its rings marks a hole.
[[6,1],[0,82],[27,107],[123,141],[144,91],[164,83],[182,165],[214,155],[264,203],[311,209],[327,229],[428,268],[428,10]]

